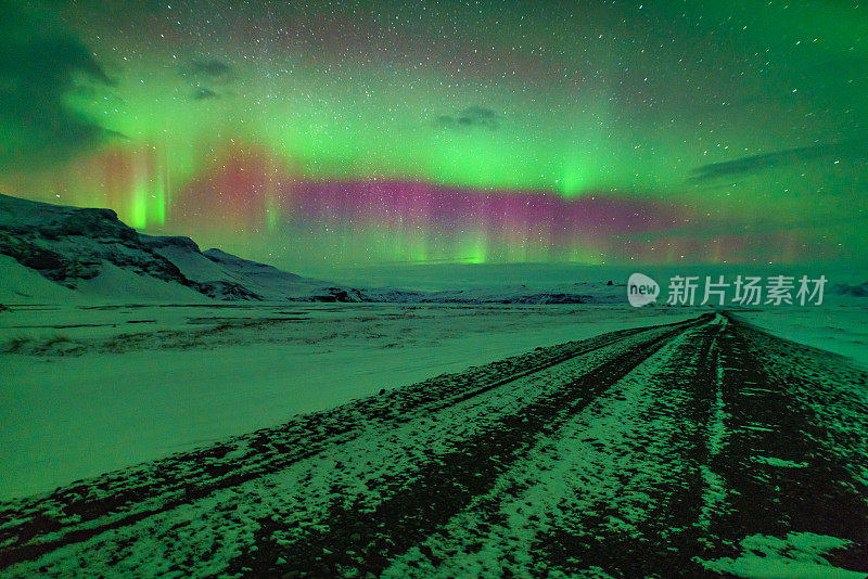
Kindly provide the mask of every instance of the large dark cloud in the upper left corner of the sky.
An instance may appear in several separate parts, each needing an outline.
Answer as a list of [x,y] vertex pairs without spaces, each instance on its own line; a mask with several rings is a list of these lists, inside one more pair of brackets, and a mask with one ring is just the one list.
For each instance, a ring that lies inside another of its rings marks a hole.
[[58,23],[0,0],[0,167],[59,160],[105,136],[64,94],[111,83],[87,47]]

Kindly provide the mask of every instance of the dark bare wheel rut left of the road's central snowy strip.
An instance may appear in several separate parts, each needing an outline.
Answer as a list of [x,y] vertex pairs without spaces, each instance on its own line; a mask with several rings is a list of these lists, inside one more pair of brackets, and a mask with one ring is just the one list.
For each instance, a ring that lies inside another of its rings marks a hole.
[[[713,317],[704,316],[701,323]],[[329,513],[322,530],[304,533],[289,544],[273,539],[285,522],[260,519],[255,550],[238,557],[230,569],[251,576],[280,576],[291,570],[315,577],[381,574],[394,556],[487,492],[497,476],[538,437],[580,412],[685,327],[689,326],[661,332],[604,363],[577,372],[547,396],[498,417],[454,450],[430,456],[409,484],[398,479],[383,489],[382,502],[372,509],[350,503]]]

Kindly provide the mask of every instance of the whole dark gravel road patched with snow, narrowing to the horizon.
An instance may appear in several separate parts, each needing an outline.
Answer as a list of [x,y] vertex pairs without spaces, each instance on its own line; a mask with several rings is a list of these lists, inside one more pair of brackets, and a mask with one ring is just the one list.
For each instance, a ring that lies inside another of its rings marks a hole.
[[705,314],[0,504],[42,576],[868,577],[868,374]]

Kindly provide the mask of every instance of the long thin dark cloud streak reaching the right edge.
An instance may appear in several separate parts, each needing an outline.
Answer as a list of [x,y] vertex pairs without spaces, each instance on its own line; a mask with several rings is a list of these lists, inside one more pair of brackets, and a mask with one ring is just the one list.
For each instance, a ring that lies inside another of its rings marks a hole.
[[822,158],[868,157],[868,141],[846,141],[843,143],[819,143],[812,146],[786,149],[764,155],[752,155],[726,163],[702,165],[692,171],[690,181],[711,181],[737,176],[758,173],[774,167],[800,165]]

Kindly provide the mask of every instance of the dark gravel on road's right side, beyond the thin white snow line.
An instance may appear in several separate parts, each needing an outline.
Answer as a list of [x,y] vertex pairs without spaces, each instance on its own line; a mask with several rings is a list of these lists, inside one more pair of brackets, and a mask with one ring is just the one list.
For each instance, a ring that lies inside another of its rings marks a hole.
[[732,557],[752,535],[810,532],[848,541],[829,563],[868,577],[868,373],[742,323],[720,345],[728,435],[712,468],[727,510],[703,559]]

